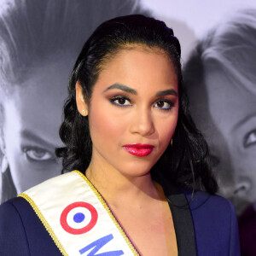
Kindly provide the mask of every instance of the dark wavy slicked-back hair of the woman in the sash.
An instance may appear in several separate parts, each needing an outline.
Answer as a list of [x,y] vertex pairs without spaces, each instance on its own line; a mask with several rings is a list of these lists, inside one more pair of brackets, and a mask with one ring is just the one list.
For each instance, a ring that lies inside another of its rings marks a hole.
[[137,45],[163,50],[172,61],[178,79],[179,112],[173,143],[153,166],[151,176],[160,183],[167,179],[179,186],[215,193],[218,186],[212,176],[207,143],[190,117],[183,89],[180,44],[163,21],[143,15],[108,20],[98,26],[84,44],[71,73],[69,96],[64,106],[60,137],[66,147],[56,149],[57,156],[62,158],[62,172],[73,169],[84,172],[92,154],[88,118],[81,116],[77,109],[75,84],[79,81],[84,99],[90,105],[93,86],[102,67],[108,65],[119,50]]

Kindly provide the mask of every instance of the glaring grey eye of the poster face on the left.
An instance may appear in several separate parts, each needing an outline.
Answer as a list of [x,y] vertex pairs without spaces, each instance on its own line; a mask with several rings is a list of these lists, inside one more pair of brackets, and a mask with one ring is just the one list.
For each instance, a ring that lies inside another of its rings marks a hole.
[[24,148],[23,152],[26,154],[26,158],[32,161],[47,161],[55,160],[55,155],[49,153],[49,151],[43,148]]

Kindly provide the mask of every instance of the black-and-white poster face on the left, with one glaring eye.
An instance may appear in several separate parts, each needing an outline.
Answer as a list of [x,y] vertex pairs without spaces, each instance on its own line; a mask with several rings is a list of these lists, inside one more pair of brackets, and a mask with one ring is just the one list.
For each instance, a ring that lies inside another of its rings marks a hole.
[[55,147],[61,145],[58,131],[69,71],[65,61],[47,63],[32,68],[24,84],[10,85],[14,90],[3,102],[3,142],[18,194],[61,174]]

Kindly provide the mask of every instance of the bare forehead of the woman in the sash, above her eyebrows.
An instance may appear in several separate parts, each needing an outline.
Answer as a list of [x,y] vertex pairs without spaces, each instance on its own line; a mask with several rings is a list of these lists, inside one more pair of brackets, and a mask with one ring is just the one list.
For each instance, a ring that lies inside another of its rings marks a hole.
[[177,85],[177,75],[166,55],[142,49],[124,49],[106,64],[97,82],[106,86],[125,83],[159,87],[160,84]]

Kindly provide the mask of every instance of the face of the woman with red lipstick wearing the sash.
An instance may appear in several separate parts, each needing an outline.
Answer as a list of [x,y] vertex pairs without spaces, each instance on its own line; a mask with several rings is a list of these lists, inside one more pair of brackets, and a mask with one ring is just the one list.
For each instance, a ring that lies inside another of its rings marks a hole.
[[177,75],[166,55],[121,50],[100,73],[90,100],[92,171],[148,174],[171,141],[177,113]]

